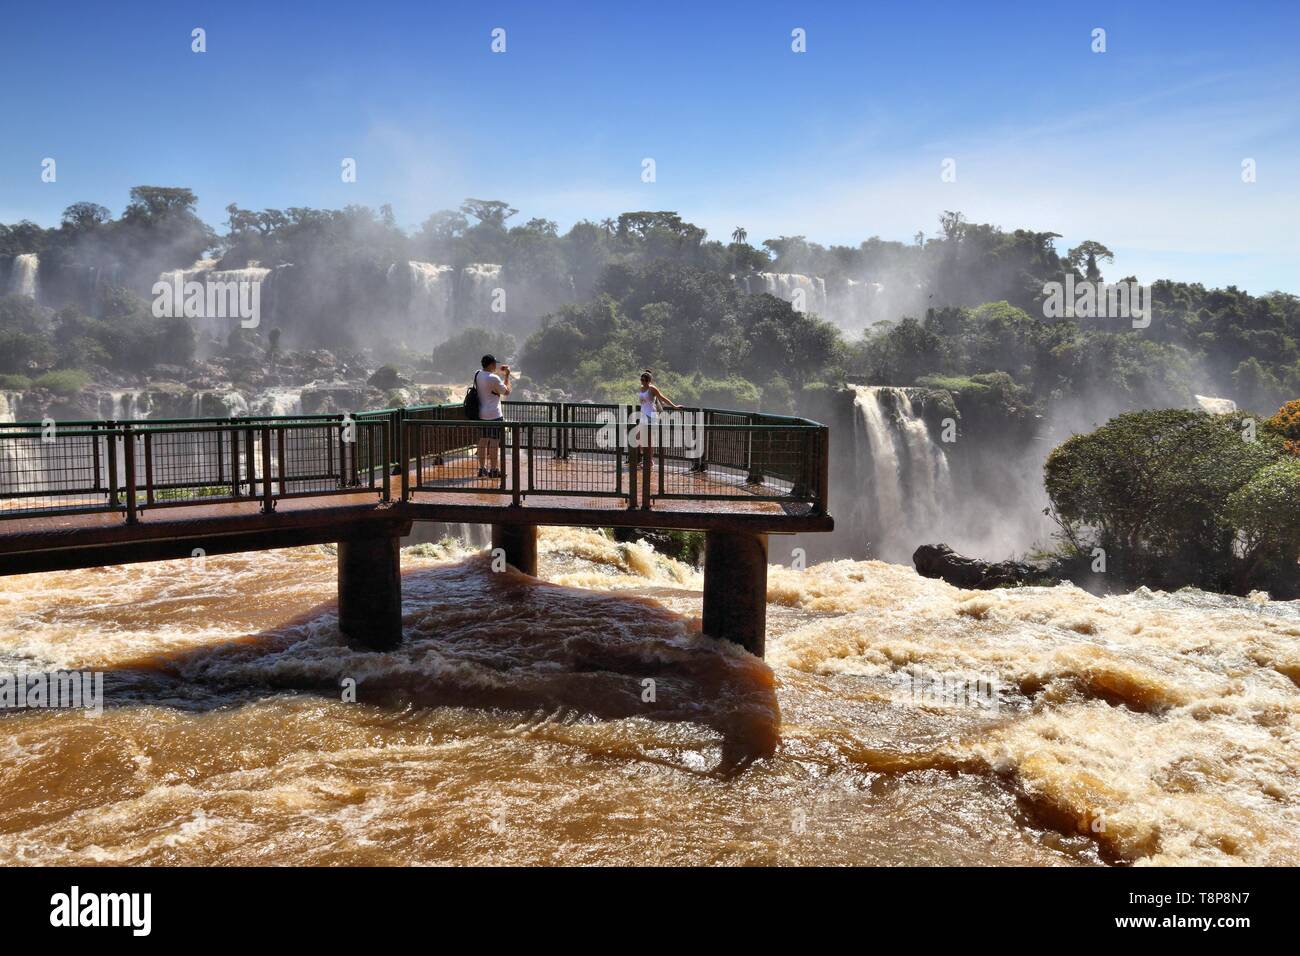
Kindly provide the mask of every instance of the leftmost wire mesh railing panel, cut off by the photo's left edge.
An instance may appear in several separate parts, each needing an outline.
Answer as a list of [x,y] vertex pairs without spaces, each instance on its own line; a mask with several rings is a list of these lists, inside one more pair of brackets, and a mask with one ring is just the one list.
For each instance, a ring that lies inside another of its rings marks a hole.
[[0,515],[110,511],[117,432],[99,427],[0,425]]

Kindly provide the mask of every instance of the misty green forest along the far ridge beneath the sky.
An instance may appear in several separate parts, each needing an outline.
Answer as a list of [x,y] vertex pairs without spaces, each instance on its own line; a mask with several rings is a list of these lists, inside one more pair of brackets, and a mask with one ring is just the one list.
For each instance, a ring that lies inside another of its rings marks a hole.
[[[495,325],[476,317],[441,349],[398,358],[456,375],[452,351],[517,342],[517,364],[534,385],[576,395],[624,394],[644,367],[680,401],[722,394],[774,410],[796,407],[801,389],[845,378],[945,388],[1018,414],[1067,399],[1115,410],[1187,406],[1193,392],[1270,414],[1300,394],[1295,295],[1160,281],[1148,328],[1049,320],[1044,282],[1101,278],[1110,251],[1089,241],[1058,254],[1053,233],[1005,232],[959,213],[911,242],[824,247],[798,235],[751,245],[740,226],[727,241],[710,239],[675,212],[625,212],[560,233],[543,219],[512,225],[517,209],[481,199],[413,230],[400,229],[389,207],[231,204],[217,232],[195,206],[187,189],[140,186],[116,219],[75,203],[53,228],[0,225],[0,263],[12,269],[13,256],[40,256],[43,303],[0,300],[0,373],[186,364],[194,333],[185,320],[155,319],[148,290],[160,272],[211,256],[216,268],[287,265],[295,277],[273,321],[224,343],[250,360],[280,330],[290,346],[373,347],[393,358],[365,334],[368,316],[393,264],[419,260],[497,263],[502,281],[525,293]],[[734,277],[757,272],[820,277],[828,315],[737,287]],[[853,299],[840,294],[850,280],[883,284],[900,311],[878,310],[864,332],[845,332],[848,323],[829,319],[852,311]]]

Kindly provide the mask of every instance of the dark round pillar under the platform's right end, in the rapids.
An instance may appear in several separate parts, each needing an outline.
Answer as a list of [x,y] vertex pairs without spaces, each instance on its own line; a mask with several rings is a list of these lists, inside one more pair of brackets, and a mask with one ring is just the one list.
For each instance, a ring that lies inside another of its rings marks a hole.
[[758,657],[767,633],[767,535],[705,533],[705,633]]

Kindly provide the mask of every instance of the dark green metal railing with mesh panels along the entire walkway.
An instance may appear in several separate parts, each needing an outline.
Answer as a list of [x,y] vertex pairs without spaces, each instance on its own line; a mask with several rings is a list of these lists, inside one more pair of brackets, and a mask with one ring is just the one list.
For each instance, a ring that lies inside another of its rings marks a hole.
[[[718,408],[506,402],[500,423],[460,405],[351,415],[0,423],[0,519],[374,493],[771,501],[827,510],[828,429]],[[594,502],[593,502],[594,503]]]

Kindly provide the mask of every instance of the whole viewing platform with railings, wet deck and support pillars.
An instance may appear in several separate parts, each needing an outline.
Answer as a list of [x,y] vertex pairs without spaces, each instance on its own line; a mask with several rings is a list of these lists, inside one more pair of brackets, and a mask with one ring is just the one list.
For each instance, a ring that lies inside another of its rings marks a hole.
[[0,575],[339,542],[341,627],[390,646],[412,522],[490,524],[525,574],[540,524],[697,529],[706,633],[762,653],[767,535],[833,527],[824,425],[684,408],[641,428],[633,406],[504,408],[500,423],[459,405],[0,423]]

